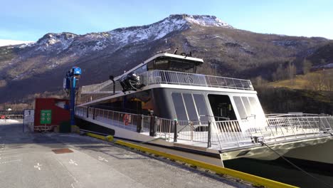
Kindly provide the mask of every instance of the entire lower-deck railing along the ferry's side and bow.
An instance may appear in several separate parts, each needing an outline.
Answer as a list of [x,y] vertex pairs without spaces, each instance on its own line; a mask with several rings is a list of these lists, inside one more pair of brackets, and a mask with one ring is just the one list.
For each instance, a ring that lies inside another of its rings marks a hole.
[[[78,107],[75,114],[169,142],[223,150],[265,143],[302,140],[332,135],[333,117],[270,117],[265,126],[248,120],[180,121],[122,113],[99,108]],[[240,124],[247,125],[241,130]]]

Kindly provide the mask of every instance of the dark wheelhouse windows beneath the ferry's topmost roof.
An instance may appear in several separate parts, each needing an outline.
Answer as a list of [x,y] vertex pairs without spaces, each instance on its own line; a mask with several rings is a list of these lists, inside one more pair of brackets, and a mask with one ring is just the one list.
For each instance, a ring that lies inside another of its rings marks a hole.
[[196,66],[201,62],[188,61],[178,58],[157,58],[147,63],[148,71],[162,70],[162,71],[177,71],[184,73],[196,73]]

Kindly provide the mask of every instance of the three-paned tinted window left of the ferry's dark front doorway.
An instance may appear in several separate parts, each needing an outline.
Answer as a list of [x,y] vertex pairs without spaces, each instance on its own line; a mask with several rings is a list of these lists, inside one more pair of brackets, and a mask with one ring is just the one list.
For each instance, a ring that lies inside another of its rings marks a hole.
[[208,110],[202,94],[172,93],[178,120],[208,121]]

